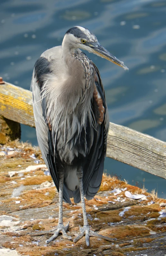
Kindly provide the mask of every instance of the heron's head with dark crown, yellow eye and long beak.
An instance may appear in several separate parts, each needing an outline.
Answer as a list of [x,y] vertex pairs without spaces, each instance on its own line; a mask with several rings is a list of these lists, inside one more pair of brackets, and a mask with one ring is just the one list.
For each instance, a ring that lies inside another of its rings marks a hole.
[[99,44],[97,37],[87,28],[79,26],[70,28],[65,34],[62,46],[64,44],[67,44],[69,49],[81,48],[83,50],[87,50],[88,52],[92,52],[97,56],[107,59],[116,65],[123,67],[125,70],[128,70],[122,61],[117,59],[114,55],[112,55]]

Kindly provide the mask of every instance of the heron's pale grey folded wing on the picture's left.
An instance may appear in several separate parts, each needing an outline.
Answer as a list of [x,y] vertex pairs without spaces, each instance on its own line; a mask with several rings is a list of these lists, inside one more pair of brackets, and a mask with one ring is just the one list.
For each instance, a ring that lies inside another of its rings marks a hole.
[[[36,125],[36,134],[39,147],[43,160],[50,171],[51,177],[55,183],[56,188],[59,191],[59,178],[57,175],[57,169],[54,161],[52,133],[46,123],[46,111],[47,104],[45,98],[41,97],[43,76],[51,72],[50,62],[47,58],[40,57],[34,66],[32,76],[32,95],[33,95],[33,112]],[[69,194],[65,185],[63,186],[63,197],[64,200],[71,204]]]

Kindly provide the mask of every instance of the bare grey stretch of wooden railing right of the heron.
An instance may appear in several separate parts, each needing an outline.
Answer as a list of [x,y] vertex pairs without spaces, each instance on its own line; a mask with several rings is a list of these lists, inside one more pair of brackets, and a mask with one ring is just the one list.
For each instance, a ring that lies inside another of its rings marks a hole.
[[110,123],[106,156],[166,179],[166,143]]

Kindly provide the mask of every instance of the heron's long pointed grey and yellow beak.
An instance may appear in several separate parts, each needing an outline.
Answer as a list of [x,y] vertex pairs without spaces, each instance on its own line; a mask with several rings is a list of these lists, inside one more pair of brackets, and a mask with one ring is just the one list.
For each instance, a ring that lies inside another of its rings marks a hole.
[[94,54],[115,63],[116,65],[122,67],[125,70],[128,70],[128,68],[124,65],[123,61],[120,61],[119,59],[117,59],[114,55],[112,55],[100,44],[97,44],[97,45],[89,44],[89,46],[92,48],[92,52]]

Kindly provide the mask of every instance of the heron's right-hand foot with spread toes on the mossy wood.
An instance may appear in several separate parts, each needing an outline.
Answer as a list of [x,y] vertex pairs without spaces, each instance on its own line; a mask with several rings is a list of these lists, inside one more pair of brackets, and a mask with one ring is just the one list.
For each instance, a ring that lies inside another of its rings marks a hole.
[[80,230],[80,234],[74,239],[75,243],[78,240],[80,240],[83,236],[85,236],[85,241],[86,241],[87,246],[89,246],[89,237],[98,237],[98,238],[102,238],[102,239],[105,239],[105,240],[108,240],[111,242],[116,240],[116,238],[105,237],[105,236],[97,234],[96,232],[90,230],[89,225],[83,226],[83,228],[81,228],[79,226],[79,230]]

